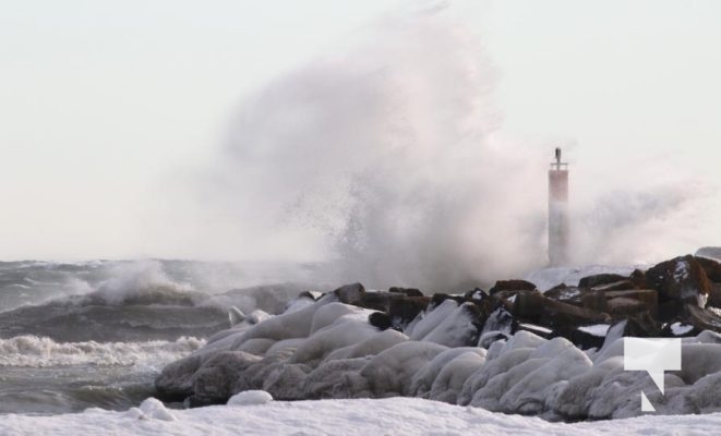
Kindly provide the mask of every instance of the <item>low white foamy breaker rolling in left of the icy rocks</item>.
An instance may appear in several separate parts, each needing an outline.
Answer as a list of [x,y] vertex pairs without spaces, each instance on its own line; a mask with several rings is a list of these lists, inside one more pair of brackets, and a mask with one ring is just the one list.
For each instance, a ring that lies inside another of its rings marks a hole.
[[161,366],[204,344],[204,340],[194,337],[175,341],[56,342],[47,337],[24,335],[0,339],[0,366]]

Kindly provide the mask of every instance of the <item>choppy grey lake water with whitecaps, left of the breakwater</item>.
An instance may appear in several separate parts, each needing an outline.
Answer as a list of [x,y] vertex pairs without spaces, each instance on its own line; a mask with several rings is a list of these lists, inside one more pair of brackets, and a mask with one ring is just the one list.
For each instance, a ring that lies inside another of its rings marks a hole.
[[278,313],[316,272],[257,263],[0,263],[0,413],[136,405],[165,364],[228,326],[228,306]]

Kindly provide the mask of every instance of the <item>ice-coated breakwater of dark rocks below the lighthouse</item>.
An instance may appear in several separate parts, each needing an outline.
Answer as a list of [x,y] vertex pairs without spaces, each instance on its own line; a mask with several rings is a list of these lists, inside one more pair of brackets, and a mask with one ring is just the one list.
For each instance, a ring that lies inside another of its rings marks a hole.
[[[360,283],[304,292],[213,336],[156,379],[165,400],[224,403],[263,389],[280,400],[412,396],[550,419],[721,411],[721,265],[683,256],[628,276],[545,292],[525,280],[424,295]],[[665,395],[623,370],[623,337],[682,337]]]

